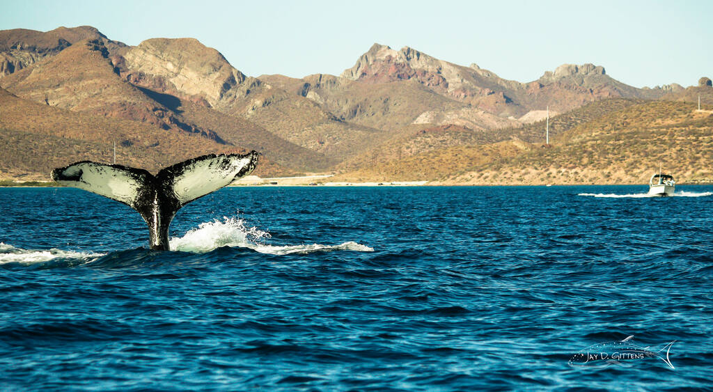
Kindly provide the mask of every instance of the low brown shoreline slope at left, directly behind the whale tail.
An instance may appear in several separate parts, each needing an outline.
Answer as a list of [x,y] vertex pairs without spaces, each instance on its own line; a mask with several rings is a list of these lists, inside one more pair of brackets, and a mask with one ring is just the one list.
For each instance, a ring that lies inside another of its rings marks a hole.
[[[0,89],[0,172],[46,180],[48,170],[78,160],[116,161],[155,172],[208,153],[242,150],[132,120],[75,113],[29,102]],[[261,160],[257,173],[289,172]]]

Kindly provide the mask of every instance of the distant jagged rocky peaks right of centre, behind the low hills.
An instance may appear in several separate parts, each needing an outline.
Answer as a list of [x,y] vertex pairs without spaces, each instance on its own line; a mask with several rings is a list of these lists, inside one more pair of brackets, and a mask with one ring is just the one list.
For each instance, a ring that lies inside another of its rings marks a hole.
[[[518,83],[498,78],[475,64],[458,66],[413,48],[395,51],[379,44],[374,44],[342,77],[260,78],[270,86],[314,101],[341,120],[389,132],[411,123],[478,130],[517,128],[520,123],[508,116],[544,111],[548,105],[553,113],[564,113],[606,98],[657,98],[666,91],[627,86],[606,75],[604,68],[591,64],[565,64],[546,72],[538,81]],[[522,130],[509,134],[529,139],[528,133]]]

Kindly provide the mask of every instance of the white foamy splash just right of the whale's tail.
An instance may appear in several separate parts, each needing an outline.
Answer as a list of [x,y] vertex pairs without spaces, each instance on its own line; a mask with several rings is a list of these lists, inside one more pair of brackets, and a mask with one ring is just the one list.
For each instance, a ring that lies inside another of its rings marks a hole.
[[245,222],[237,218],[223,217],[198,225],[198,229],[190,229],[183,237],[173,237],[169,247],[173,251],[205,253],[219,247],[243,247],[265,254],[292,254],[329,252],[332,250],[352,250],[357,252],[374,252],[374,249],[356,242],[344,242],[339,245],[302,244],[275,246],[265,244],[270,239],[270,233],[246,227]]

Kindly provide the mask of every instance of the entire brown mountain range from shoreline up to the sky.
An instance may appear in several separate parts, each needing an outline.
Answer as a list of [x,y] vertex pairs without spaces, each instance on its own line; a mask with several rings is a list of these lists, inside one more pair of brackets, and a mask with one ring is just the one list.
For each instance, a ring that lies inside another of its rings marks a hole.
[[[552,165],[593,167],[627,152],[600,149],[605,155],[588,163],[565,159],[594,143],[594,136],[573,135],[597,122],[624,135],[652,121],[627,110],[656,108],[667,130],[656,138],[679,138],[671,130],[685,123],[702,130],[679,147],[709,148],[707,112],[691,102],[700,97],[709,107],[712,91],[707,78],[689,88],[635,88],[593,64],[564,64],[521,83],[474,63],[378,43],[340,76],[253,77],[193,38],[128,46],[91,26],[14,29],[0,31],[0,178],[46,179],[52,167],[75,160],[111,162],[114,150],[116,163],[158,170],[195,155],[254,149],[262,154],[256,171],[262,177],[328,172],[346,180],[448,184],[587,182],[591,177],[581,172],[553,176]],[[543,145],[547,113],[552,145]],[[601,123],[606,118],[619,123]],[[573,143],[577,148],[565,148]],[[708,164],[711,155],[701,156],[687,165]],[[523,175],[530,159],[544,163]],[[633,173],[640,176],[652,162],[641,165],[596,181],[638,181]],[[496,166],[515,177],[493,177]],[[688,169],[681,172],[689,180],[713,178],[710,165]]]

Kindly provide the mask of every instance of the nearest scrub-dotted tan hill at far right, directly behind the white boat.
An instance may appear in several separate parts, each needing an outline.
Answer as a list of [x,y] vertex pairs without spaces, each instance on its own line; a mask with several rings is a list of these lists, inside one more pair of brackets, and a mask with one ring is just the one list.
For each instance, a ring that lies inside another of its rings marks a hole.
[[446,184],[645,184],[659,163],[679,182],[713,180],[713,111],[692,103],[630,105],[498,163],[474,165]]

